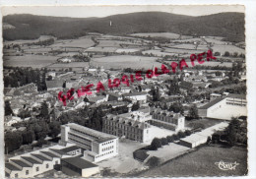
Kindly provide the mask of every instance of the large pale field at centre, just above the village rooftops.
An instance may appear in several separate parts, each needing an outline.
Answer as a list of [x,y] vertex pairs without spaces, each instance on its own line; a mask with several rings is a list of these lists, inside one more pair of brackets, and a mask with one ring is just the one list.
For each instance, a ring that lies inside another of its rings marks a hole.
[[94,58],[91,63],[96,66],[103,66],[105,69],[110,68],[133,68],[133,69],[152,69],[153,66],[160,67],[160,63],[155,60],[157,57],[144,57],[132,55],[106,56]]

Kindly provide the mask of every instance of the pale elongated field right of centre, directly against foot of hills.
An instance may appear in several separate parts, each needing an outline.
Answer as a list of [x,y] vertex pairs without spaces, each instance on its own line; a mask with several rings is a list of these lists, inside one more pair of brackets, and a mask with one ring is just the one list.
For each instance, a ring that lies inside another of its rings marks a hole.
[[[165,38],[172,38],[177,39],[179,34],[173,32],[144,32],[144,33],[133,33],[132,36],[139,36],[139,37],[165,37]],[[182,35],[181,39],[192,38],[190,35]]]

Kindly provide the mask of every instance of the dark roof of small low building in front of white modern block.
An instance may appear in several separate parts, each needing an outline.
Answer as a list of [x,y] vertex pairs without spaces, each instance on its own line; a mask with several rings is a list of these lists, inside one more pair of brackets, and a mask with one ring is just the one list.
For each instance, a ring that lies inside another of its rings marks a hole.
[[76,166],[77,168],[80,169],[85,169],[85,168],[92,168],[96,167],[97,165],[94,163],[91,163],[85,159],[82,159],[80,156],[76,157],[68,157],[68,158],[62,158],[61,160],[72,164],[73,166]]

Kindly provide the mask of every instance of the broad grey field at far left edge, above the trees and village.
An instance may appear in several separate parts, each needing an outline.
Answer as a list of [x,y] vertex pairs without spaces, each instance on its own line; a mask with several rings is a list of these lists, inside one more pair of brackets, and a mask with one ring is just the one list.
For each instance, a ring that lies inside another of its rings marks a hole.
[[42,68],[54,63],[59,57],[44,55],[7,56],[4,66]]

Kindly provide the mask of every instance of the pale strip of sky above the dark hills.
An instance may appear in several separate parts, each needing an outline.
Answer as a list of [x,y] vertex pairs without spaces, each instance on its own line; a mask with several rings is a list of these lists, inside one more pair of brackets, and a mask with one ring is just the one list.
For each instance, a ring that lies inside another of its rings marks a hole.
[[244,6],[241,5],[190,5],[190,6],[10,6],[2,8],[2,15],[10,14],[33,14],[42,16],[72,17],[72,18],[89,18],[89,17],[106,17],[116,14],[127,14],[134,12],[160,11],[166,13],[204,16],[222,12],[239,12],[244,13]]

